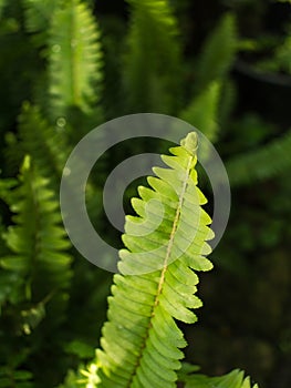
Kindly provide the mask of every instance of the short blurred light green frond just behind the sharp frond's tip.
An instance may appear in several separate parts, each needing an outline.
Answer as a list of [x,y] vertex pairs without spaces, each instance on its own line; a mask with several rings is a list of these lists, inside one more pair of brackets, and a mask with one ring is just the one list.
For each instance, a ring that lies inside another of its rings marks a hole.
[[180,114],[180,119],[201,131],[211,142],[217,140],[220,85],[212,82]]

